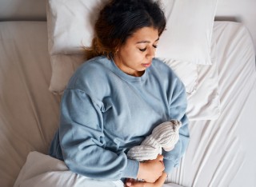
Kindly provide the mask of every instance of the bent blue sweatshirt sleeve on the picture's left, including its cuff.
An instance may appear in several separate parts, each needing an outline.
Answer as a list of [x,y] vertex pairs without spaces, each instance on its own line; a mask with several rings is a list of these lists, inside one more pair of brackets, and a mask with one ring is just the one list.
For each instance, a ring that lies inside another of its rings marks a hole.
[[74,173],[101,180],[136,178],[138,161],[105,149],[102,103],[81,90],[66,90],[61,103],[59,141],[66,165]]

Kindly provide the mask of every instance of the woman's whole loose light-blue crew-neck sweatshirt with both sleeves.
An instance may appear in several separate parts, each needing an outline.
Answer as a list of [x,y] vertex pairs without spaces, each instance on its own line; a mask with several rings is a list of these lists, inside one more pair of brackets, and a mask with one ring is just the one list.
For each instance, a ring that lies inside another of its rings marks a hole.
[[78,68],[62,96],[50,156],[86,177],[136,178],[139,163],[126,153],[170,119],[182,121],[182,127],[174,149],[163,150],[166,173],[178,165],[189,142],[181,80],[155,58],[142,77],[125,74],[104,56],[92,58]]

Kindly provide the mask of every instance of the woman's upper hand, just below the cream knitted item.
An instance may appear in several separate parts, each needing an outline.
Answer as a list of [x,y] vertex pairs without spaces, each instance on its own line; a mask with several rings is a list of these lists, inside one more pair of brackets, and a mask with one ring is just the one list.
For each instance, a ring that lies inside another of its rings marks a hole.
[[163,156],[158,154],[158,157],[154,160],[140,162],[137,178],[153,183],[162,176],[164,169]]

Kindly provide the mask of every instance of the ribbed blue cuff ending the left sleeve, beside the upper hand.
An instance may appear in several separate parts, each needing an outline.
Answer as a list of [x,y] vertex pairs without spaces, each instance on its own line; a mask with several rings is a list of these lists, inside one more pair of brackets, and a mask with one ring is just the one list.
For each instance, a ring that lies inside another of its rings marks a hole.
[[137,178],[139,162],[127,159],[126,169],[123,170],[123,178]]

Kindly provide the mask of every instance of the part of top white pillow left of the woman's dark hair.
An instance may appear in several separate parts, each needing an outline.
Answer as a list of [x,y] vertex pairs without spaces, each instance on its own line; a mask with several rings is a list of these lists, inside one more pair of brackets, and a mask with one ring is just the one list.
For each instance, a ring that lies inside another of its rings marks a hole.
[[50,54],[82,54],[90,46],[94,22],[107,0],[47,0]]

